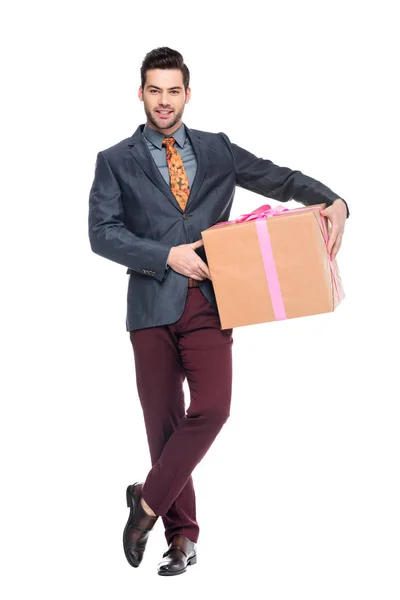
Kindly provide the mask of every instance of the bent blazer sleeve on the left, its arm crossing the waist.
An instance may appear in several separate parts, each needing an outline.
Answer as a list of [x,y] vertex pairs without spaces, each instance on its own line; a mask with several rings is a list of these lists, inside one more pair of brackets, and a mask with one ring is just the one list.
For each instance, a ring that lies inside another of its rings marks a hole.
[[126,228],[121,188],[104,152],[97,154],[88,224],[93,252],[159,281],[164,279],[172,246],[138,237]]

